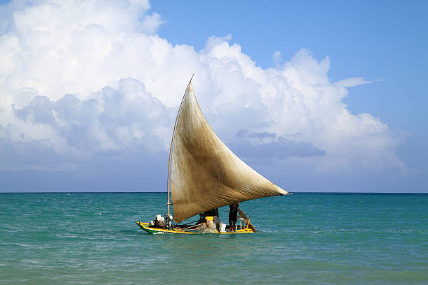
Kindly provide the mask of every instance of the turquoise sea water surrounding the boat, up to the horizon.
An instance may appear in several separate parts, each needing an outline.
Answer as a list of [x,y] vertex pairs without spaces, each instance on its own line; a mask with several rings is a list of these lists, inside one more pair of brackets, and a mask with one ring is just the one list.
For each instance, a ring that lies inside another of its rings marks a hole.
[[250,213],[256,234],[144,233],[165,200],[0,193],[0,284],[428,284],[427,194],[294,193]]

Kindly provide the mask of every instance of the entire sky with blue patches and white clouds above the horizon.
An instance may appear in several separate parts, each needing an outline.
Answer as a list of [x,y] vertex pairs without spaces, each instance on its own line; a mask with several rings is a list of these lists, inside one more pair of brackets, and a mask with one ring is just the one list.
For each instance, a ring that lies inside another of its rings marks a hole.
[[425,1],[0,1],[0,191],[166,191],[188,80],[286,191],[428,192]]

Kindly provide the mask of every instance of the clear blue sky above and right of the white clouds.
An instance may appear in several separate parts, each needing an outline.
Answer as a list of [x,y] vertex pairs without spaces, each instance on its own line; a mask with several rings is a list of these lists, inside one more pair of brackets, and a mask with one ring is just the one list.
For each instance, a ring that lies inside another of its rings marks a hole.
[[257,64],[273,67],[273,53],[290,59],[302,47],[331,59],[329,78],[379,80],[350,89],[353,113],[369,112],[404,132],[401,159],[428,167],[427,1],[155,1],[166,21],[158,34],[202,49],[208,36],[232,34]]

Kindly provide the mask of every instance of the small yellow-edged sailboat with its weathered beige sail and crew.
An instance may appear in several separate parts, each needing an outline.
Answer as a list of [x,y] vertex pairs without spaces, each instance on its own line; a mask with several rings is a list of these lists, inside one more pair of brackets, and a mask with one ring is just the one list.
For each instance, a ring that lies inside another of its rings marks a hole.
[[[217,137],[199,107],[192,78],[178,109],[171,139],[168,213],[164,217],[157,215],[150,223],[136,224],[148,233],[255,233],[250,217],[241,209],[239,222],[229,230],[220,223],[218,214],[216,217],[210,211],[215,213],[218,207],[289,193],[250,168]],[[197,214],[198,221],[180,224]]]

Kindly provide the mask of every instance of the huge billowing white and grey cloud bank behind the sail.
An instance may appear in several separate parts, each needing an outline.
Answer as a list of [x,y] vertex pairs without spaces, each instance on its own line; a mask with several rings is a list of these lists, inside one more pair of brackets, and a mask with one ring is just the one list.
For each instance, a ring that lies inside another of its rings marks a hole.
[[330,82],[328,57],[299,50],[281,63],[276,52],[276,67],[263,69],[230,35],[208,38],[199,51],[171,45],[157,36],[164,20],[148,1],[13,1],[0,15],[3,171],[152,163],[141,175],[166,173],[159,165],[167,166],[192,73],[208,122],[256,168],[271,161],[278,173],[406,171],[387,125],[343,103],[347,87],[370,81]]

